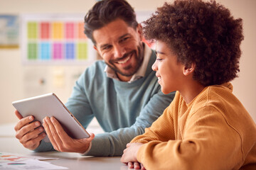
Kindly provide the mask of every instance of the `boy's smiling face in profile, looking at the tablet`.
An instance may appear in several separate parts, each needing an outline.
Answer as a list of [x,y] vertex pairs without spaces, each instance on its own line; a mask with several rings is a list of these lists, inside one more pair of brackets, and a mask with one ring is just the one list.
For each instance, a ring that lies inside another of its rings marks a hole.
[[161,91],[164,94],[177,91],[182,86],[183,67],[184,65],[177,61],[176,55],[171,52],[166,43],[158,40],[156,42],[156,62],[152,65],[152,69],[156,72]]

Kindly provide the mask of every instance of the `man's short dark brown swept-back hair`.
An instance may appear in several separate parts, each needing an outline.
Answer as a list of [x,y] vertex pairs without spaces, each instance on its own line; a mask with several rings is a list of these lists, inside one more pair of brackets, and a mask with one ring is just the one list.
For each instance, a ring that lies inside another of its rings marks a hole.
[[93,31],[102,28],[117,18],[122,19],[128,26],[134,29],[137,28],[136,14],[127,1],[98,1],[85,16],[85,35],[95,43],[92,37]]

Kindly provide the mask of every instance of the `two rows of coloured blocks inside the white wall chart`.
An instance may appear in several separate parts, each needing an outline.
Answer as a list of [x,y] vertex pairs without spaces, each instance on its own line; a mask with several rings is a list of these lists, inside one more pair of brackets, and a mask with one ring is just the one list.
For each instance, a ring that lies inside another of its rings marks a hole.
[[75,21],[28,21],[28,61],[73,61],[88,59],[88,39],[83,23]]

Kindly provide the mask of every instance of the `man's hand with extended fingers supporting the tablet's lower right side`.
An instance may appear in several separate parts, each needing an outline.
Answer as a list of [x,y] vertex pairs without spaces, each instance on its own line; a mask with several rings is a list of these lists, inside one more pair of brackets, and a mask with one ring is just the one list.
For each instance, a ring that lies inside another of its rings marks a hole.
[[73,139],[68,136],[58,120],[53,117],[43,119],[43,128],[45,128],[54,149],[60,152],[78,152],[82,154],[87,151],[90,142],[95,137],[95,135],[91,133],[89,138]]

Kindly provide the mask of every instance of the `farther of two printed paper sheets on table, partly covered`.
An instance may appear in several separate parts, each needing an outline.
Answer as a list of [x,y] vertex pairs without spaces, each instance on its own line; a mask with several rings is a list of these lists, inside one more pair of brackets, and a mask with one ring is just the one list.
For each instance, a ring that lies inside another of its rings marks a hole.
[[53,159],[56,159],[56,158],[24,156],[24,155],[21,155],[21,154],[13,154],[13,153],[7,153],[7,152],[0,152],[0,163],[1,162],[19,162],[19,161],[24,161],[26,159],[53,160]]

